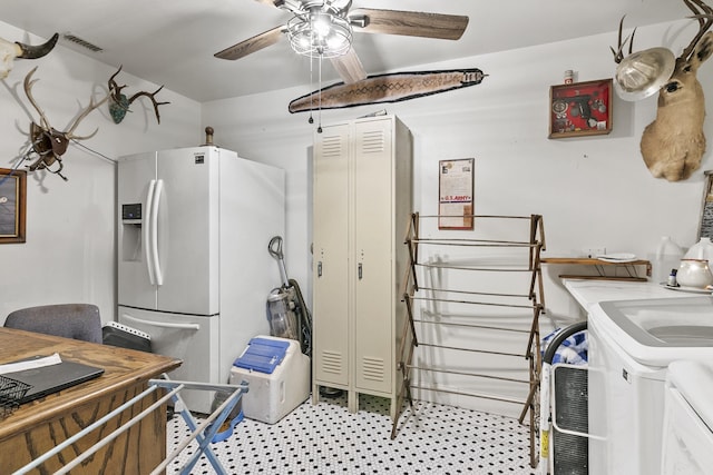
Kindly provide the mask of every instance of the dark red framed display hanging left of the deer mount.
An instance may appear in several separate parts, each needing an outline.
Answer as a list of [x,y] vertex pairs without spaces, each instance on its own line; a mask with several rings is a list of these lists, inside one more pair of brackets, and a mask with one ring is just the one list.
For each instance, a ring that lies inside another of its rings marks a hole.
[[612,131],[612,79],[551,86],[550,139],[597,136]]

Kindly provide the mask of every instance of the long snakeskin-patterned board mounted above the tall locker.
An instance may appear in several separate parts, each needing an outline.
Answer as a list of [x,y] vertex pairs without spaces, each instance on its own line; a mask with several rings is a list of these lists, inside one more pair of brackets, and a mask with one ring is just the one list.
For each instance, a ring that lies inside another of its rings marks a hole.
[[339,109],[370,103],[399,102],[479,85],[488,75],[480,69],[394,72],[375,75],[359,82],[318,89],[290,102],[290,112]]

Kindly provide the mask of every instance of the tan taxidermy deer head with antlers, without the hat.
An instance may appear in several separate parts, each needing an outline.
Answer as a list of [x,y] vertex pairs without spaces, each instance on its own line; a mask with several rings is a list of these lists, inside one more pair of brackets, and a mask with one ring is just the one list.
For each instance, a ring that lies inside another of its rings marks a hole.
[[[713,53],[713,32],[707,32],[713,26],[713,9],[702,0],[683,2],[699,21],[699,31],[676,58],[673,75],[660,89],[656,119],[646,126],[641,141],[642,156],[651,174],[668,181],[691,177],[701,166],[705,151],[705,98],[696,72]],[[634,42],[634,33],[622,42],[622,23],[618,51],[612,49],[617,63],[624,59],[622,50],[626,42],[629,42],[629,53]]]

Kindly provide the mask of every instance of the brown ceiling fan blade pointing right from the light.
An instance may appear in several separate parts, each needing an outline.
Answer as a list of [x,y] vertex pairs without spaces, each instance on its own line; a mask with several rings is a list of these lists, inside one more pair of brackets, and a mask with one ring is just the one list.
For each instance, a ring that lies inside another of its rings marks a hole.
[[[349,20],[356,31],[403,34],[407,37],[457,40],[468,27],[468,17],[420,11],[354,9]],[[363,24],[363,26],[362,26]]]

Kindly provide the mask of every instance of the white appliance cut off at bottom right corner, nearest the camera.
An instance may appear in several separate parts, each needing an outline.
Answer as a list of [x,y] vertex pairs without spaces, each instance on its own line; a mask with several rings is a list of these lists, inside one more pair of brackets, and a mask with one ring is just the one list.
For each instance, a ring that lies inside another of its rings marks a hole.
[[713,469],[713,363],[672,363],[665,388],[661,474],[710,474]]

